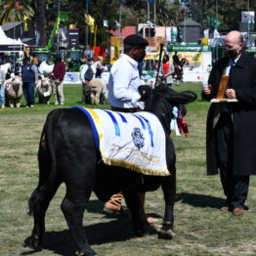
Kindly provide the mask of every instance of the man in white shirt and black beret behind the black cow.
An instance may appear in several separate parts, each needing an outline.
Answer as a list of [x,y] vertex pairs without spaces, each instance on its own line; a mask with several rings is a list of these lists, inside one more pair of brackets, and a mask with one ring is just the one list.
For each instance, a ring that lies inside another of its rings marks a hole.
[[[112,65],[108,80],[108,102],[113,111],[137,112],[144,108],[138,91],[141,79],[138,64],[146,57],[149,43],[141,35],[132,34],[124,38],[124,54]],[[113,194],[105,204],[107,212],[122,211],[122,192]],[[150,218],[144,209],[145,193],[141,193],[141,215],[145,221],[155,223],[158,219]]]

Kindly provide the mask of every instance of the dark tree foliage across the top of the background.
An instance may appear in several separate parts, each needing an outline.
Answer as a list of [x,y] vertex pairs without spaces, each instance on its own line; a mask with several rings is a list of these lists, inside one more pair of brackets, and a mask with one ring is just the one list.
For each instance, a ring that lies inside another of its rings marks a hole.
[[[119,11],[122,11],[122,26],[136,25],[152,21],[157,25],[177,25],[183,21],[185,15],[192,16],[203,27],[207,28],[207,16],[217,18],[222,21],[219,28],[221,31],[228,31],[239,28],[241,11],[252,11],[254,6],[248,10],[248,0],[188,0],[190,6],[184,8],[169,0],[155,0],[154,4],[147,0],[125,0],[120,5],[119,0],[91,0],[91,4],[86,6],[86,0],[61,0],[61,12],[68,13],[68,21],[62,24],[74,23],[80,28],[81,43],[85,38],[84,14],[88,14],[95,19],[97,25],[97,45],[102,45],[107,41],[108,31],[117,28],[116,21],[119,21]],[[252,2],[252,1],[251,1]],[[26,16],[30,22],[36,24],[41,34],[41,45],[46,44],[46,33],[50,33],[58,16],[59,0],[20,0],[22,9],[15,9],[15,0],[0,0],[0,23],[8,21],[22,21]],[[149,13],[148,13],[149,6]],[[121,9],[120,9],[121,8]],[[149,17],[148,17],[149,15]],[[108,27],[104,26],[104,21],[108,21]],[[93,34],[90,34],[91,42]]]

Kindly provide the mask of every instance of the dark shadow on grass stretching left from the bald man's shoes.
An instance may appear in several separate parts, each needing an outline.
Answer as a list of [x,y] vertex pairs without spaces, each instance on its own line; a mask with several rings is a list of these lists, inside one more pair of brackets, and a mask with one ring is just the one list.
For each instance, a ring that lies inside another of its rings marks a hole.
[[220,197],[197,194],[197,193],[188,193],[188,192],[178,193],[176,201],[181,201],[182,203],[188,203],[194,207],[211,207],[211,208],[221,208],[226,202],[225,199]]

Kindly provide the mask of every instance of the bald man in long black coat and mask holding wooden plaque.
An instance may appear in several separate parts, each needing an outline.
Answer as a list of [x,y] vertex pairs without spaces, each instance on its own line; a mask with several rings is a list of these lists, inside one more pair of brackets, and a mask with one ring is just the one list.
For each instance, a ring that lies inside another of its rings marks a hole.
[[221,207],[235,216],[244,214],[250,175],[256,175],[256,61],[243,51],[240,32],[225,38],[227,57],[214,64],[202,97],[216,98],[221,77],[229,75],[226,98],[211,104],[207,117],[207,174],[220,171],[226,202]]

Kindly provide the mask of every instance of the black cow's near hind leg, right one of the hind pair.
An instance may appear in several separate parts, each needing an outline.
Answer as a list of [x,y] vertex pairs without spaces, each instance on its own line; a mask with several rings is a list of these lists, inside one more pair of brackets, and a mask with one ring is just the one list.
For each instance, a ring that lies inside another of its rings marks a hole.
[[67,179],[68,185],[62,203],[64,218],[78,248],[78,255],[95,256],[96,252],[90,247],[83,228],[84,210],[93,191],[94,176],[88,172],[81,175],[84,170],[78,171],[78,168],[75,172],[74,169],[70,170],[69,173],[72,177]]

